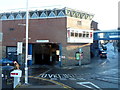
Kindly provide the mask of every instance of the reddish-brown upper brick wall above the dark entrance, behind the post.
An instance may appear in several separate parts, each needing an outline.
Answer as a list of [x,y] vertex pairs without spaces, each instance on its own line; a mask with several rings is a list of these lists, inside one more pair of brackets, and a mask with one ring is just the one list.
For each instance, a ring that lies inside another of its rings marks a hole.
[[[17,42],[25,43],[25,20],[3,21],[3,45],[16,46]],[[66,43],[66,18],[47,18],[29,20],[29,43],[36,40],[49,40],[51,43]]]

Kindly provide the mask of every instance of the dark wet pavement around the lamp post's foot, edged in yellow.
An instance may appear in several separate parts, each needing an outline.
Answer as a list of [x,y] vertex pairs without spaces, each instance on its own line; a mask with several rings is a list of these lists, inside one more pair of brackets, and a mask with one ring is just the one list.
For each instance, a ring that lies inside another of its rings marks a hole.
[[63,83],[57,82],[57,81],[53,81],[50,79],[45,79],[45,78],[41,78],[39,77],[40,74],[45,74],[48,71],[50,71],[52,69],[52,67],[50,66],[40,66],[40,65],[32,65],[29,67],[29,74],[28,74],[28,84],[24,84],[25,81],[25,76],[24,76],[24,69],[22,69],[23,71],[23,76],[21,77],[21,82],[19,85],[17,85],[17,87],[15,88],[15,90],[22,90],[22,89],[70,89],[72,90],[71,87],[64,85]]

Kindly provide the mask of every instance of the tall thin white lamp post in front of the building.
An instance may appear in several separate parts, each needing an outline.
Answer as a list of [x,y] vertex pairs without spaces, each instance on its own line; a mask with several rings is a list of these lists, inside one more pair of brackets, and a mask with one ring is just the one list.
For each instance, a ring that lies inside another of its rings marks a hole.
[[25,52],[25,84],[28,84],[28,0],[26,0],[26,52]]

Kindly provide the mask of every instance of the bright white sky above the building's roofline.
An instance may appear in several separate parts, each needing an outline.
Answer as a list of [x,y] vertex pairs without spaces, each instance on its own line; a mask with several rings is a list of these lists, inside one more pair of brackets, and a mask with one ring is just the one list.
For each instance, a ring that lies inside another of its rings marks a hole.
[[[94,14],[100,30],[118,28],[119,0],[28,0],[29,9],[68,7]],[[23,10],[26,0],[0,0],[0,12]]]

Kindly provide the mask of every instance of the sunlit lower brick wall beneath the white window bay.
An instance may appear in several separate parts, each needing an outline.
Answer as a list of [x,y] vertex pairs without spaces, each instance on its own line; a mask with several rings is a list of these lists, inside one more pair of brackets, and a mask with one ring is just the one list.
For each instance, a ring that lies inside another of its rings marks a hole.
[[79,48],[82,48],[83,53],[84,53],[84,58],[81,63],[82,64],[90,63],[89,44],[67,45],[66,47],[62,48],[62,55],[65,56],[65,58],[62,59],[63,66],[78,64],[78,61],[75,60],[75,53],[79,50]]

